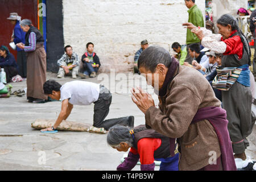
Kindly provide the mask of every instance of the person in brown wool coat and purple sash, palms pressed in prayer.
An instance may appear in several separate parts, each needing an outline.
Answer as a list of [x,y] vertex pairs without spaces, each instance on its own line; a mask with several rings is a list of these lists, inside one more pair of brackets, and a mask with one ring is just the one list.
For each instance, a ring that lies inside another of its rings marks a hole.
[[131,90],[132,100],[146,125],[170,138],[172,153],[177,139],[179,170],[236,170],[226,112],[205,77],[157,46],[142,52],[138,68],[159,90],[159,108],[141,88]]

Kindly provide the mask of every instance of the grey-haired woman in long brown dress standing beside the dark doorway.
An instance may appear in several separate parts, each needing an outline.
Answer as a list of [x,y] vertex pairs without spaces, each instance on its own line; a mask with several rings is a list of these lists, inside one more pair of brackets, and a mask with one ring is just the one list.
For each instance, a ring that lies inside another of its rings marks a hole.
[[28,102],[43,103],[47,100],[43,91],[43,84],[46,82],[44,38],[29,19],[23,19],[20,28],[26,32],[26,43],[19,43],[16,46],[27,52],[27,99]]

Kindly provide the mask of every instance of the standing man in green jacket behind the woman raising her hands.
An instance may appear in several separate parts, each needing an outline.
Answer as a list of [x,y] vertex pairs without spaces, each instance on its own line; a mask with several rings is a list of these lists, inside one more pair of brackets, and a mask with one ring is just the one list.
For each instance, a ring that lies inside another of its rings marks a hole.
[[[195,0],[185,0],[185,5],[188,10],[188,22],[195,24],[197,27],[204,27],[204,18],[201,10],[195,4]],[[200,44],[200,39],[197,38],[195,34],[191,32],[191,30],[187,29],[187,51],[190,44],[198,43]],[[193,58],[187,54],[185,62],[189,64],[192,63]]]

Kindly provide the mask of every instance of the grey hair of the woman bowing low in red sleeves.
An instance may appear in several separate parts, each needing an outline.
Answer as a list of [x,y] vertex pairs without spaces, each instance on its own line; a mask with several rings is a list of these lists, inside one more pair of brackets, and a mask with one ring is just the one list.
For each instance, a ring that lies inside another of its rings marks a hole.
[[121,142],[126,142],[133,146],[134,140],[130,134],[130,128],[122,125],[115,125],[109,129],[107,142],[112,147],[119,147]]

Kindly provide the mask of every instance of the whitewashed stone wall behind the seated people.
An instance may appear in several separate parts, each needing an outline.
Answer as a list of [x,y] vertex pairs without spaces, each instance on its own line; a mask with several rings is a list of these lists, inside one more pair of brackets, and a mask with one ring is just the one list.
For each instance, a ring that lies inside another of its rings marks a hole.
[[[205,1],[196,4],[204,15]],[[170,53],[172,43],[185,44],[187,10],[184,0],[63,0],[64,43],[81,57],[93,42],[101,72],[127,72],[144,39]]]

